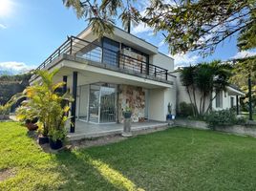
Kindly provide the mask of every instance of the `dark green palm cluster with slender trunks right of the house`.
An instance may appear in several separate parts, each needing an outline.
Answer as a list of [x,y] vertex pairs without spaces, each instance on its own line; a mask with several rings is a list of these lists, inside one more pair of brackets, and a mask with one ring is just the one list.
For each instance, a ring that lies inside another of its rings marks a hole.
[[[193,106],[194,116],[203,116],[211,109],[212,100],[215,98],[212,97],[213,92],[225,90],[230,75],[229,68],[229,65],[220,61],[213,61],[181,69],[181,82]],[[208,105],[206,100],[210,100]]]

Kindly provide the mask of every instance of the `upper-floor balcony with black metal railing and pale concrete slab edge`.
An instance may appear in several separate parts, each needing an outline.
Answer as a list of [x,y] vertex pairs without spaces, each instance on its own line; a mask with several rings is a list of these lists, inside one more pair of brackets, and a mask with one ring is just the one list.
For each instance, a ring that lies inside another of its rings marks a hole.
[[115,46],[104,46],[102,40],[89,42],[75,36],[68,37],[36,70],[49,69],[59,62],[60,58],[87,62],[96,67],[169,84],[173,84],[175,77],[169,74],[167,69],[150,64],[148,57],[131,52],[129,48],[118,49]]

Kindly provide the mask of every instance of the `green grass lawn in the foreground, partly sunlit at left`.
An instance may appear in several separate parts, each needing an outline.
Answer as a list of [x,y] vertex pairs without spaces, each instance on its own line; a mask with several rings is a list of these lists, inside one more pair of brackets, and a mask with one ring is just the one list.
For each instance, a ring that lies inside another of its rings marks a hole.
[[0,190],[255,190],[256,138],[174,128],[106,146],[44,153],[0,123]]

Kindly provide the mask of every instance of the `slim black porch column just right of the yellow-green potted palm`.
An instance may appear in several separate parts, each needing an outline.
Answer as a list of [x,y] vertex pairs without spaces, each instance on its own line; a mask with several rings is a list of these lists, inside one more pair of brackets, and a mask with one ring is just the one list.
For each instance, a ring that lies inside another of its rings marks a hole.
[[72,106],[71,106],[71,123],[72,123],[70,128],[71,133],[75,133],[76,90],[77,90],[77,72],[73,72],[72,94],[73,94],[74,101],[72,102]]

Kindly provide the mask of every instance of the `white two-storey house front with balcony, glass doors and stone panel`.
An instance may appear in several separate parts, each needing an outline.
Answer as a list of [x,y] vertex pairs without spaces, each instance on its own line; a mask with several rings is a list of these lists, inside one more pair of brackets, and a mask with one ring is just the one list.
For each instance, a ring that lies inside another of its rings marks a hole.
[[[75,97],[74,123],[119,123],[127,107],[133,122],[165,121],[169,103],[176,113],[174,60],[117,27],[101,38],[92,27],[69,37],[38,70],[56,68],[54,81],[65,81],[64,91]],[[33,75],[31,83],[36,80]]]

